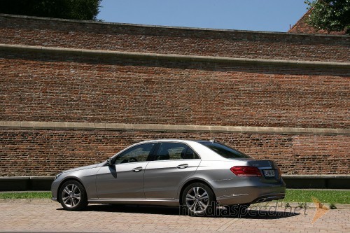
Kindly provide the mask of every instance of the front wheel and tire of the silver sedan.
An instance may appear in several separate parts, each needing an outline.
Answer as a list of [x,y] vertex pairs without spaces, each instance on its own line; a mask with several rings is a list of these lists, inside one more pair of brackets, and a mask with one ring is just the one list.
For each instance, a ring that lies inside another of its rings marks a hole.
[[80,211],[87,206],[84,186],[78,181],[66,181],[59,189],[59,203],[67,211]]

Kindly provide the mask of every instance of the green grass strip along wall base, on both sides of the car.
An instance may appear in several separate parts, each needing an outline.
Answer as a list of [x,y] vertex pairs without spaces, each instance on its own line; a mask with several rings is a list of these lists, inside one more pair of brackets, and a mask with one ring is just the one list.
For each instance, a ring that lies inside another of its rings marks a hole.
[[[316,197],[322,203],[350,204],[350,190],[295,190],[287,189],[283,202],[312,202]],[[0,199],[51,198],[51,192],[0,192]]]

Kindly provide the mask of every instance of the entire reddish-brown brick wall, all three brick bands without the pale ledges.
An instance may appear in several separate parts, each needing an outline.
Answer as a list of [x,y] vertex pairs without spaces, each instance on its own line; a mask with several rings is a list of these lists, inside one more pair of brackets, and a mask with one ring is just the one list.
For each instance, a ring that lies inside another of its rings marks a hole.
[[[0,15],[0,44],[349,62],[349,36],[145,27]],[[0,46],[0,122],[111,122],[349,129],[350,69],[211,62]],[[0,125],[0,176],[46,176],[146,139],[217,139],[284,174],[350,174],[349,134],[14,129]]]

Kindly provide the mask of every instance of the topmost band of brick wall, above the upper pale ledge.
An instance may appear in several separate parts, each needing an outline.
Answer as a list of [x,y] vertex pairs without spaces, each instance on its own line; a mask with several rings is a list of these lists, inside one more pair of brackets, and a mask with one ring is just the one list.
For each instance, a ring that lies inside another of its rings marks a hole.
[[0,15],[7,44],[178,55],[349,62],[349,36],[181,29]]

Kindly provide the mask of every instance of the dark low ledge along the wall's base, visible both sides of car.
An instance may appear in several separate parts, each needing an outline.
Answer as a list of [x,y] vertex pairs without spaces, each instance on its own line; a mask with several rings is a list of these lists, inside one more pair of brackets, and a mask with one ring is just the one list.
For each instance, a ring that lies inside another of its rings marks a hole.
[[[287,188],[350,189],[350,175],[284,175]],[[50,190],[54,176],[0,177],[0,191]]]

